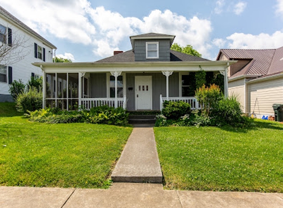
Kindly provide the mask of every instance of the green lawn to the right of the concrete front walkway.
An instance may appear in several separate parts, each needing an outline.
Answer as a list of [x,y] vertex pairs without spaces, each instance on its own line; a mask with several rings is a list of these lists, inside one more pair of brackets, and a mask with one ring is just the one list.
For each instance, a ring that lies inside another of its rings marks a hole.
[[168,189],[283,193],[283,124],[154,130]]

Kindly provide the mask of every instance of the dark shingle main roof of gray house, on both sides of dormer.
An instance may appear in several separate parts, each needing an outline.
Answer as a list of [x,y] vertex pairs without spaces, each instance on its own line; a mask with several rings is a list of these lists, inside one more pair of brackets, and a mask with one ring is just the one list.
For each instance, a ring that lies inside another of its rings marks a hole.
[[[170,61],[210,61],[197,56],[191,56],[185,53],[170,50]],[[114,62],[135,62],[135,55],[132,50],[110,56],[96,62],[114,63]]]

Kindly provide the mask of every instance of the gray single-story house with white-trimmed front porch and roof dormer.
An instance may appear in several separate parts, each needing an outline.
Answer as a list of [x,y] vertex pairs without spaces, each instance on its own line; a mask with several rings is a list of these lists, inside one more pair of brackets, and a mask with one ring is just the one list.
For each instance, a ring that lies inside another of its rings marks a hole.
[[[170,50],[174,35],[149,33],[130,36],[132,48],[114,56],[87,63],[34,63],[43,71],[43,107],[89,109],[98,105],[127,110],[160,110],[165,100],[188,97],[191,72],[213,71],[224,75],[237,61],[209,61]],[[227,94],[227,88],[226,88]]]

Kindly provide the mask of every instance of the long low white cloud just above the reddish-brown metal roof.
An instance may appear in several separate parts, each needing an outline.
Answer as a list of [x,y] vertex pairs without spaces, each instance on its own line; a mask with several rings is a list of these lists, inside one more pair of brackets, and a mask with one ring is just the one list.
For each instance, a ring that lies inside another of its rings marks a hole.
[[261,33],[259,35],[234,33],[227,37],[229,48],[266,49],[283,46],[283,33],[280,31],[272,35]]

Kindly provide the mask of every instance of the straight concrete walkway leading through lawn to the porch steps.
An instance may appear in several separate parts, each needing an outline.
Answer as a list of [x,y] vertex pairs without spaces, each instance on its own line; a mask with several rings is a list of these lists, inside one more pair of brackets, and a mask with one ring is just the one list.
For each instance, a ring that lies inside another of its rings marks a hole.
[[111,179],[114,182],[162,183],[153,128],[133,128]]

